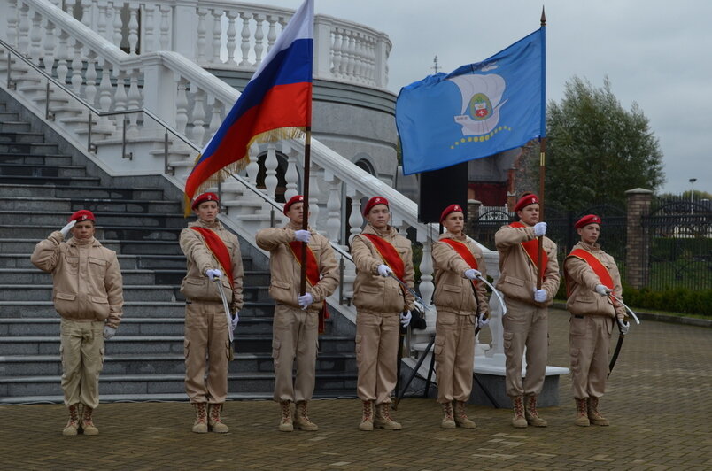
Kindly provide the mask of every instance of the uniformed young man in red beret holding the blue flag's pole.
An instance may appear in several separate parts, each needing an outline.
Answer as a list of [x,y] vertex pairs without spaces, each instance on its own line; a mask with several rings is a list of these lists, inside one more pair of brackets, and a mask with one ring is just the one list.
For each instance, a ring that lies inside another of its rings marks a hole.
[[[537,289],[538,241],[546,234],[546,222],[539,222],[538,198],[526,193],[515,205],[520,221],[499,228],[494,241],[499,251],[497,289],[505,295],[504,349],[507,357],[507,396],[512,398],[515,417],[512,425],[546,427],[537,412],[537,396],[544,387],[548,347],[546,306],[559,290],[559,263],[556,244],[544,237],[544,281]],[[527,349],[527,371],[522,385],[522,355]],[[526,398],[522,398],[525,395]],[[524,404],[526,402],[526,404]]]

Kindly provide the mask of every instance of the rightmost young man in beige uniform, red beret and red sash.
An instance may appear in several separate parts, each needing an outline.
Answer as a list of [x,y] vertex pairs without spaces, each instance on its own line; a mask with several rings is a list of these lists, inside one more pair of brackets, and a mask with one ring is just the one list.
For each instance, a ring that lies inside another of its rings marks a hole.
[[569,347],[571,389],[577,404],[575,423],[582,427],[608,425],[598,405],[606,390],[608,350],[616,317],[622,322],[624,332],[628,328],[625,309],[608,297],[612,292],[622,298],[621,275],[613,257],[596,243],[600,217],[589,214],[574,227],[581,241],[566,258],[564,273],[569,292],[566,308],[571,313]]

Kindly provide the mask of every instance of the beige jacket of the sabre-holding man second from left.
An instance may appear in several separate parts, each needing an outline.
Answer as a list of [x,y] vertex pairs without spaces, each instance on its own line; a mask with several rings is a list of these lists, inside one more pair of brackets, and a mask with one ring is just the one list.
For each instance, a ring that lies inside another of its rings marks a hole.
[[188,263],[186,266],[186,275],[181,283],[181,292],[186,299],[190,301],[210,301],[220,303],[222,298],[215,282],[209,280],[205,276],[205,270],[219,269],[222,267],[218,260],[213,257],[213,252],[208,249],[203,236],[197,231],[190,229],[194,226],[200,228],[211,229],[217,235],[220,235],[222,242],[228,248],[230,260],[232,261],[232,275],[235,282],[232,290],[230,289],[230,281],[223,274],[221,279],[222,289],[225,292],[225,297],[228,298],[230,311],[233,313],[243,308],[243,259],[240,254],[240,243],[237,236],[224,228],[220,221],[216,220],[212,224],[206,223],[204,220],[196,220],[188,224],[187,229],[181,231],[181,249],[185,254]]

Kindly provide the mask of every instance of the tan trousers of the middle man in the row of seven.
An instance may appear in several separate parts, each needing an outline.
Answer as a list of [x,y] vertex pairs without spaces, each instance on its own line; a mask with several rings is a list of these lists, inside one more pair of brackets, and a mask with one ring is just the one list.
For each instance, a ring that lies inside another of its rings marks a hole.
[[356,389],[361,400],[391,402],[397,379],[399,328],[399,313],[356,314]]

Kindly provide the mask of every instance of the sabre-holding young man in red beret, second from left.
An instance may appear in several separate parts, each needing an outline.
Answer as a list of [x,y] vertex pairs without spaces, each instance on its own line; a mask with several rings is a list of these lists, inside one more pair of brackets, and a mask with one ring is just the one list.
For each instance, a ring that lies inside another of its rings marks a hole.
[[[237,236],[228,232],[217,220],[220,207],[214,193],[203,193],[192,204],[197,220],[181,231],[181,249],[188,261],[187,273],[181,284],[185,305],[185,392],[196,409],[193,431],[205,433],[228,432],[221,420],[221,409],[228,396],[228,360],[232,345],[228,328],[234,329],[239,320],[237,312],[243,307],[243,260]],[[196,228],[197,230],[194,230]],[[205,231],[205,235],[199,231]],[[219,237],[214,246],[211,240]],[[233,283],[222,266],[220,241],[227,249]],[[213,278],[220,278],[228,299],[232,320],[228,324],[222,298]],[[205,357],[208,373],[205,379]],[[206,403],[209,405],[206,410]]]

